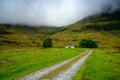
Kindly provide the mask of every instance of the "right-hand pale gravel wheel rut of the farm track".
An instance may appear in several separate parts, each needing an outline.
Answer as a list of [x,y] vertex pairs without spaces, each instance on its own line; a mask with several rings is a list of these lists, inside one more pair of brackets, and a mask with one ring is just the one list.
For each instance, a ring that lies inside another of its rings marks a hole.
[[91,53],[92,50],[84,57],[82,57],[79,61],[70,66],[67,70],[61,71],[52,80],[72,80],[73,76],[76,74],[78,69],[82,66],[83,62],[88,58]]

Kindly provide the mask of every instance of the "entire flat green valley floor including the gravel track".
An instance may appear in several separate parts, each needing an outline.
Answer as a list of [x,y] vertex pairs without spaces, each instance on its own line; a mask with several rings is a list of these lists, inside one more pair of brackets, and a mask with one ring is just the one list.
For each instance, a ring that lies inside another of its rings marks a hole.
[[0,51],[0,80],[119,80],[119,53],[79,48]]

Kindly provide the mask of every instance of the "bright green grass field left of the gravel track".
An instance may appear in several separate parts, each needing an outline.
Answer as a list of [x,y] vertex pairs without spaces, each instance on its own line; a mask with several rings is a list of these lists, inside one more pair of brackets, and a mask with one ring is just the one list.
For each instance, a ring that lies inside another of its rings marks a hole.
[[67,60],[84,49],[20,49],[0,51],[0,80],[11,80],[38,69]]

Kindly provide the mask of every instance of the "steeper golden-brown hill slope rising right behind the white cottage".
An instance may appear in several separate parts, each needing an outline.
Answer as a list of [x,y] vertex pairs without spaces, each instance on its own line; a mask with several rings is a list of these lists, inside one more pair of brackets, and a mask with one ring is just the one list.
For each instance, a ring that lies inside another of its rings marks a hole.
[[54,47],[64,47],[67,44],[78,47],[82,38],[89,38],[96,41],[100,48],[120,48],[120,12],[85,18],[67,26],[52,38]]

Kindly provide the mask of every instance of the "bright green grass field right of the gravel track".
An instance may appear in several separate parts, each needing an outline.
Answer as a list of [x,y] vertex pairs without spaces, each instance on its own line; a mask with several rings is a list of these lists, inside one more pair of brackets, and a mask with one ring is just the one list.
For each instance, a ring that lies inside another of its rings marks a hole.
[[120,80],[120,53],[94,50],[73,80]]

